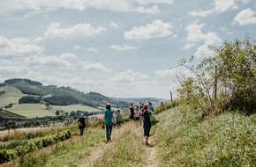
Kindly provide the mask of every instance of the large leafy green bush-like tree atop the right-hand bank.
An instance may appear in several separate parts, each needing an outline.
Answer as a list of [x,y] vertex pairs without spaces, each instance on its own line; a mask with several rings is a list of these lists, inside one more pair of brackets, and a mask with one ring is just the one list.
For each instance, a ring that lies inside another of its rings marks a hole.
[[224,110],[256,111],[256,46],[250,38],[224,42],[222,47],[210,47],[215,55],[204,59],[197,68],[188,67],[193,78],[179,79],[180,97],[193,98],[205,107]]

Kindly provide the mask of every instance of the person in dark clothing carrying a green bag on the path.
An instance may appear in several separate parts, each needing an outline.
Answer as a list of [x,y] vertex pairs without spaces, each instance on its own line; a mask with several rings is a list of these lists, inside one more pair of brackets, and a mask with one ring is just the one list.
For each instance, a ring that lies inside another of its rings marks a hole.
[[149,119],[149,115],[152,114],[148,110],[148,105],[143,105],[143,113],[141,114],[139,124],[141,125],[141,122],[143,121],[143,130],[144,130],[144,140],[145,140],[145,145],[149,147],[148,144],[148,138],[150,134],[150,129],[151,129],[151,123]]

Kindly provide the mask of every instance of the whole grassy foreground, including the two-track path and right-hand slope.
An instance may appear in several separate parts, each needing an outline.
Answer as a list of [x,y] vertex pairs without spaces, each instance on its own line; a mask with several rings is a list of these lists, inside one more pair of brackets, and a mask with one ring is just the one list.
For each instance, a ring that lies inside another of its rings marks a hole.
[[[135,122],[115,128],[107,144],[105,131],[90,127],[81,138],[33,153],[22,166],[255,166],[255,115],[222,113],[208,120],[201,115],[177,108],[157,114],[153,148],[143,145],[142,127]],[[153,151],[155,157],[148,157]]]

